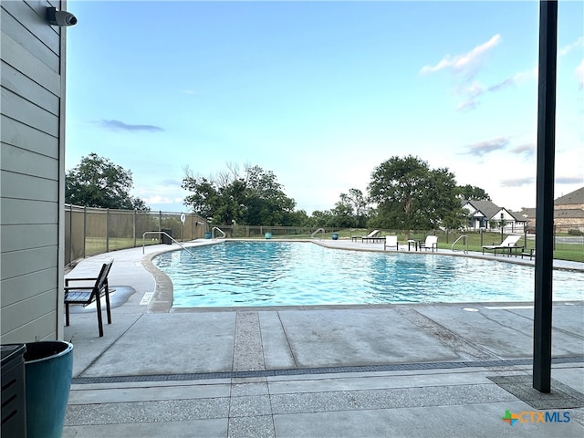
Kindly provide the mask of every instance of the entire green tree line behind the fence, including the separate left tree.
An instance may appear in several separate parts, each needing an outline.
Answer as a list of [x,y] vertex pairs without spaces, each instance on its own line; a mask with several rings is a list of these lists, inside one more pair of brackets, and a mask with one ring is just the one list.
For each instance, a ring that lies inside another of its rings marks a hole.
[[[184,204],[213,224],[323,226],[334,228],[455,229],[466,224],[464,199],[490,200],[472,185],[459,186],[448,169],[431,169],[412,155],[393,156],[371,172],[367,193],[351,188],[330,210],[310,216],[296,210],[274,172],[235,164],[214,177],[184,169]],[[150,210],[130,196],[131,172],[90,153],[66,175],[66,202],[102,208]]]

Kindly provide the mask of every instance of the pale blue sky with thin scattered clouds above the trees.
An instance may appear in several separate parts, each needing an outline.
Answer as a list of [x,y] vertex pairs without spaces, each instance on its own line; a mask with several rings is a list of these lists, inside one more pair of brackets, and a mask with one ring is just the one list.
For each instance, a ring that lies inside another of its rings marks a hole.
[[[536,203],[537,1],[68,0],[66,166],[132,172],[187,211],[184,168],[276,174],[297,209],[412,154],[509,209]],[[584,185],[584,2],[558,2],[556,197]]]

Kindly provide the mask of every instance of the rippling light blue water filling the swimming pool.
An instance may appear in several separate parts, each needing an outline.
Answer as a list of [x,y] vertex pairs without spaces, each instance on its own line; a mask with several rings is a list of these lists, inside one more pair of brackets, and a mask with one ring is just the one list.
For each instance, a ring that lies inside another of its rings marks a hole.
[[[154,258],[174,308],[532,301],[534,268],[469,257],[373,253],[300,242],[224,242]],[[554,271],[554,299],[584,274]]]

